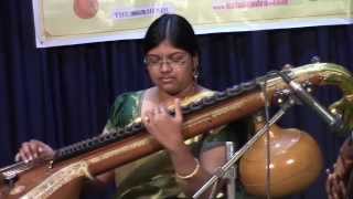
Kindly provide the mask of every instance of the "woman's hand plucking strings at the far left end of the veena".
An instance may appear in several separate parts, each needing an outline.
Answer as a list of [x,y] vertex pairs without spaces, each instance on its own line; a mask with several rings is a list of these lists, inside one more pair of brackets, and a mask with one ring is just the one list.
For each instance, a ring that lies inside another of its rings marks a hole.
[[49,145],[31,139],[30,142],[22,143],[19,153],[15,155],[15,160],[31,161],[36,158],[51,158],[54,156],[54,150]]

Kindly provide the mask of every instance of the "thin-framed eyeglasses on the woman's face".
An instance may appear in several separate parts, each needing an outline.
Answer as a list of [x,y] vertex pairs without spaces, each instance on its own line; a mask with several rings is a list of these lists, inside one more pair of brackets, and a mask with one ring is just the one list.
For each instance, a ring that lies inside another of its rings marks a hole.
[[167,56],[147,55],[143,62],[149,67],[161,67],[163,64],[167,64],[171,67],[180,67],[185,65],[185,63],[188,62],[188,59],[189,59],[188,53],[178,52]]

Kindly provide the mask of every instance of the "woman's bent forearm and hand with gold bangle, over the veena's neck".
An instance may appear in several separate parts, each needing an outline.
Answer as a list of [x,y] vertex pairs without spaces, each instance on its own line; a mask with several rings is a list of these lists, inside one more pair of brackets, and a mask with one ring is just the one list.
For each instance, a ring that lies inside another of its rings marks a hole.
[[[180,101],[175,101],[175,116],[170,116],[164,107],[146,113],[143,124],[147,130],[169,153],[176,177],[181,179],[184,192],[192,196],[225,163],[225,147],[215,147],[202,153],[196,159],[182,136],[182,114]],[[207,193],[205,193],[206,196]]]

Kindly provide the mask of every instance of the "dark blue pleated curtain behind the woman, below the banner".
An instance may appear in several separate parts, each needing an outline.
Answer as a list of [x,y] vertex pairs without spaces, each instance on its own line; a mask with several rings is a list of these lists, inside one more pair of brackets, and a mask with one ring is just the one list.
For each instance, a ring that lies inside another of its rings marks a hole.
[[[30,0],[0,1],[0,167],[12,164],[20,144],[31,138],[57,148],[100,134],[115,96],[150,86],[140,40],[36,49],[32,15]],[[352,28],[200,35],[202,84],[223,90],[286,63],[308,64],[314,55],[352,70]],[[341,94],[320,88],[315,96],[329,105]],[[330,133],[314,113],[295,106],[281,124],[310,133],[324,167],[332,166],[344,138]],[[324,179],[323,170],[296,198],[325,198]]]

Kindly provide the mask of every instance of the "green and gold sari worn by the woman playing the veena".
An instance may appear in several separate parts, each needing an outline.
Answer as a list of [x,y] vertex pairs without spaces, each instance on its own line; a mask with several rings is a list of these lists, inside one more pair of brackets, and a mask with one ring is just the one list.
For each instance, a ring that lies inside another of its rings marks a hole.
[[[113,105],[106,130],[121,128],[140,116],[143,91],[125,93],[118,96]],[[232,140],[236,148],[242,144],[252,126],[247,121],[237,122],[212,133],[197,136],[190,144],[195,157],[201,151],[224,145]],[[238,132],[238,134],[235,134]],[[232,134],[231,134],[232,133]],[[243,137],[239,138],[242,135]],[[130,198],[186,198],[174,176],[172,163],[164,150],[154,153],[133,163],[116,169],[116,182],[118,186],[118,199]]]

